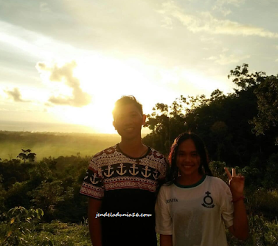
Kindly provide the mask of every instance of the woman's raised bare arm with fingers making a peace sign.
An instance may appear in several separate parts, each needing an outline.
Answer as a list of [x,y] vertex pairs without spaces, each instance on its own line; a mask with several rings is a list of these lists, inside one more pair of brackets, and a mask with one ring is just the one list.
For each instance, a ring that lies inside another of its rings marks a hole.
[[229,178],[229,187],[234,202],[234,224],[229,227],[229,231],[236,238],[246,240],[249,236],[249,227],[243,197],[244,176],[236,175],[235,169],[232,169],[232,174],[227,167],[225,167],[225,171]]

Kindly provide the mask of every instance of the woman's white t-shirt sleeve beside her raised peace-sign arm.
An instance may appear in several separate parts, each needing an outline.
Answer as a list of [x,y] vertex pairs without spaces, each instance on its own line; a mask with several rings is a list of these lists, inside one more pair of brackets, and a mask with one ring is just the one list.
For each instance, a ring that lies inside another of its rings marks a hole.
[[220,213],[227,228],[234,224],[234,204],[229,186],[220,180]]

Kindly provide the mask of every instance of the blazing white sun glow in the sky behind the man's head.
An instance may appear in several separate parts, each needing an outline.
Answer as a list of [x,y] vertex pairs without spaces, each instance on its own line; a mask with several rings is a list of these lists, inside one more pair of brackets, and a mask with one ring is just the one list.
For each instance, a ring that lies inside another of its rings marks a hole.
[[[116,100],[133,95],[142,103],[143,112],[150,114],[156,103],[154,95],[170,96],[170,91],[154,84],[144,66],[134,61],[123,61],[102,56],[76,60],[74,77],[92,101],[83,107],[60,106],[56,116],[66,123],[85,125],[92,132],[116,134],[112,111]],[[145,132],[145,128],[143,128]]]

